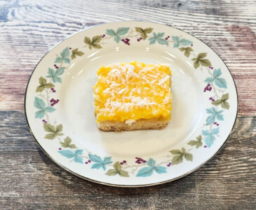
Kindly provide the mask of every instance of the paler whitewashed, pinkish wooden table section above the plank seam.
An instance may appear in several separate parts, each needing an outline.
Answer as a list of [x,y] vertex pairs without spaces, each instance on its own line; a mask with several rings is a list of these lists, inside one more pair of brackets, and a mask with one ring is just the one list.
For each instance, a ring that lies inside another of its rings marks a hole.
[[231,70],[239,116],[256,114],[254,0],[1,1],[0,109],[23,109],[27,80],[55,43],[85,27],[121,20],[159,22],[200,38]]

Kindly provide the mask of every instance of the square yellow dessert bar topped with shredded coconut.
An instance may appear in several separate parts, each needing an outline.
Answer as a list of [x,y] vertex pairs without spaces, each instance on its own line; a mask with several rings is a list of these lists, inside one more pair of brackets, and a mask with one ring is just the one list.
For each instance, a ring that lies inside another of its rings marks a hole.
[[171,118],[171,71],[141,62],[101,66],[93,86],[97,127],[103,131],[166,127]]

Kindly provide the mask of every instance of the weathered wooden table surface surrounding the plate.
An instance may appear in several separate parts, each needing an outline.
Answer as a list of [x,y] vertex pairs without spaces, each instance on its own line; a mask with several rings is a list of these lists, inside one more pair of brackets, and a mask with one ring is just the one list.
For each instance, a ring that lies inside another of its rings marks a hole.
[[[34,66],[55,43],[102,22],[182,29],[217,52],[236,81],[238,119],[220,153],[161,186],[114,188],[55,165],[24,115]],[[256,1],[1,0],[0,209],[256,209]]]

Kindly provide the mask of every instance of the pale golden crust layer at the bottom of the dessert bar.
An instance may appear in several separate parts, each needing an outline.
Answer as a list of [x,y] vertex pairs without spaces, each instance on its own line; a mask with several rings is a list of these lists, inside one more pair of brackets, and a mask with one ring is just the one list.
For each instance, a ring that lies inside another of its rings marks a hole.
[[131,131],[131,130],[160,130],[168,125],[169,119],[140,119],[131,125],[125,122],[105,121],[97,123],[97,127],[102,131]]

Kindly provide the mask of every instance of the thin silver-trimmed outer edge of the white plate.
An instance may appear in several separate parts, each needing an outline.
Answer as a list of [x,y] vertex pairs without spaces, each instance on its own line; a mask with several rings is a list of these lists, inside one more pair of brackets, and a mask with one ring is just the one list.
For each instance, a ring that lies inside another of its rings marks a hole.
[[234,87],[235,87],[235,90],[236,90],[236,118],[234,120],[234,124],[232,125],[232,128],[229,132],[229,135],[227,136],[227,139],[224,140],[222,146],[220,146],[220,148],[214,153],[213,156],[211,156],[210,158],[208,158],[208,160],[206,160],[205,162],[201,163],[201,165],[198,165],[196,168],[192,169],[191,171],[185,173],[185,174],[182,174],[180,176],[177,176],[175,177],[174,179],[168,179],[166,181],[160,181],[160,182],[155,182],[155,183],[149,183],[149,184],[142,184],[142,185],[119,185],[119,184],[114,184],[114,183],[107,183],[107,182],[102,182],[102,181],[95,181],[93,179],[89,179],[88,177],[85,177],[85,176],[81,176],[80,174],[77,174],[76,172],[73,172],[71,169],[68,169],[67,167],[65,167],[64,165],[62,165],[60,162],[58,162],[57,160],[54,160],[44,149],[43,149],[43,146],[41,146],[39,144],[39,141],[37,141],[36,137],[34,137],[34,134],[31,130],[31,127],[29,126],[29,122],[28,122],[28,119],[27,119],[27,111],[26,111],[26,101],[27,101],[27,89],[28,89],[28,86],[29,86],[29,82],[32,78],[32,75],[34,73],[34,71],[36,70],[36,67],[39,65],[39,63],[43,60],[44,57],[46,57],[46,55],[48,55],[48,53],[53,50],[53,48],[55,48],[57,45],[60,45],[60,43],[62,43],[63,41],[65,41],[67,38],[71,37],[71,36],[74,36],[75,34],[78,34],[80,33],[81,31],[86,31],[90,28],[93,28],[93,27],[98,27],[100,25],[107,25],[107,24],[111,24],[111,23],[121,23],[121,22],[142,22],[142,23],[151,23],[151,24],[156,24],[156,25],[161,25],[162,27],[170,27],[170,28],[173,28],[173,29],[177,29],[175,27],[172,27],[170,25],[165,25],[165,24],[161,24],[161,23],[158,23],[158,22],[144,22],[144,21],[137,21],[137,20],[126,20],[126,21],[115,21],[115,22],[105,22],[105,23],[100,23],[100,24],[97,24],[97,25],[93,25],[93,26],[90,26],[90,27],[86,27],[85,29],[81,29],[79,31],[76,31],[74,34],[70,34],[69,36],[67,36],[66,38],[62,38],[62,40],[60,40],[58,43],[56,43],[55,45],[53,45],[53,47],[51,47],[49,50],[47,50],[47,52],[45,53],[45,55],[43,55],[43,57],[41,57],[41,59],[39,60],[39,62],[37,62],[36,66],[34,67],[32,73],[30,74],[29,76],[29,80],[27,81],[27,87],[26,87],[26,90],[25,90],[25,98],[24,98],[24,108],[25,108],[25,119],[26,119],[26,122],[27,122],[27,126],[29,128],[29,132],[30,134],[32,134],[32,137],[34,138],[34,140],[36,141],[36,144],[39,146],[39,148],[41,148],[41,150],[43,151],[43,153],[46,154],[46,156],[48,156],[48,158],[50,158],[50,160],[52,160],[53,162],[55,162],[56,165],[58,165],[59,167],[61,167],[62,169],[65,169],[67,172],[71,173],[71,174],[74,174],[75,176],[78,176],[79,178],[81,179],[85,179],[87,181],[91,181],[93,183],[100,183],[102,185],[105,185],[105,186],[114,186],[114,187],[121,187],[121,188],[138,188],[138,187],[148,187],[148,186],[156,186],[156,185],[160,185],[160,184],[163,184],[163,183],[168,183],[168,182],[171,182],[171,181],[175,181],[177,179],[180,179],[184,176],[187,176],[193,172],[195,172],[197,169],[201,168],[203,165],[206,164],[206,162],[210,161],[212,158],[215,158],[215,156],[217,155],[217,153],[220,152],[220,150],[224,147],[224,145],[227,143],[227,140],[229,139],[230,135],[231,135],[231,132],[234,130],[234,126],[236,125],[236,120],[238,118],[238,91],[237,91],[237,87],[236,87],[236,83],[235,83],[235,80],[234,80],[234,77],[232,76],[232,73],[231,71],[229,70],[227,64],[223,61],[222,57],[220,57],[220,55],[217,54],[217,52],[215,52],[215,50],[213,50],[213,48],[211,48],[208,44],[206,44],[204,41],[202,41],[200,38],[197,38],[196,36],[192,35],[192,34],[189,34],[188,32],[186,31],[183,31],[182,29],[177,29],[178,31],[182,31],[186,34],[189,34],[190,36],[193,36],[194,38],[198,39],[198,41],[201,41],[202,43],[204,43],[208,48],[210,48],[210,50],[213,50],[213,52],[215,52],[215,55],[217,55],[217,57],[219,57],[222,62],[224,63],[224,65],[226,66],[227,70],[229,71],[229,74],[234,82]]

